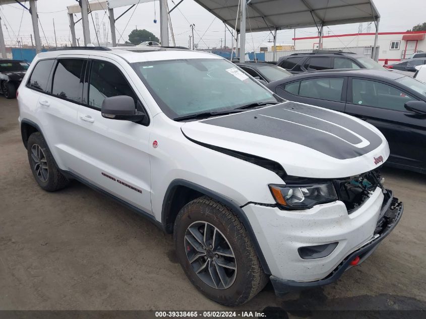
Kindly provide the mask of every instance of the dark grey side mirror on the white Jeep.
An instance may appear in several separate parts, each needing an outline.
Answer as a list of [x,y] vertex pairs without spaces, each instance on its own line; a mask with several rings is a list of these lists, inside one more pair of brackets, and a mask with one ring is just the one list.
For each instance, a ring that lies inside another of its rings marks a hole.
[[145,114],[137,111],[135,101],[127,95],[117,95],[107,97],[101,106],[102,116],[110,119],[121,119],[132,122],[140,122],[145,118]]

